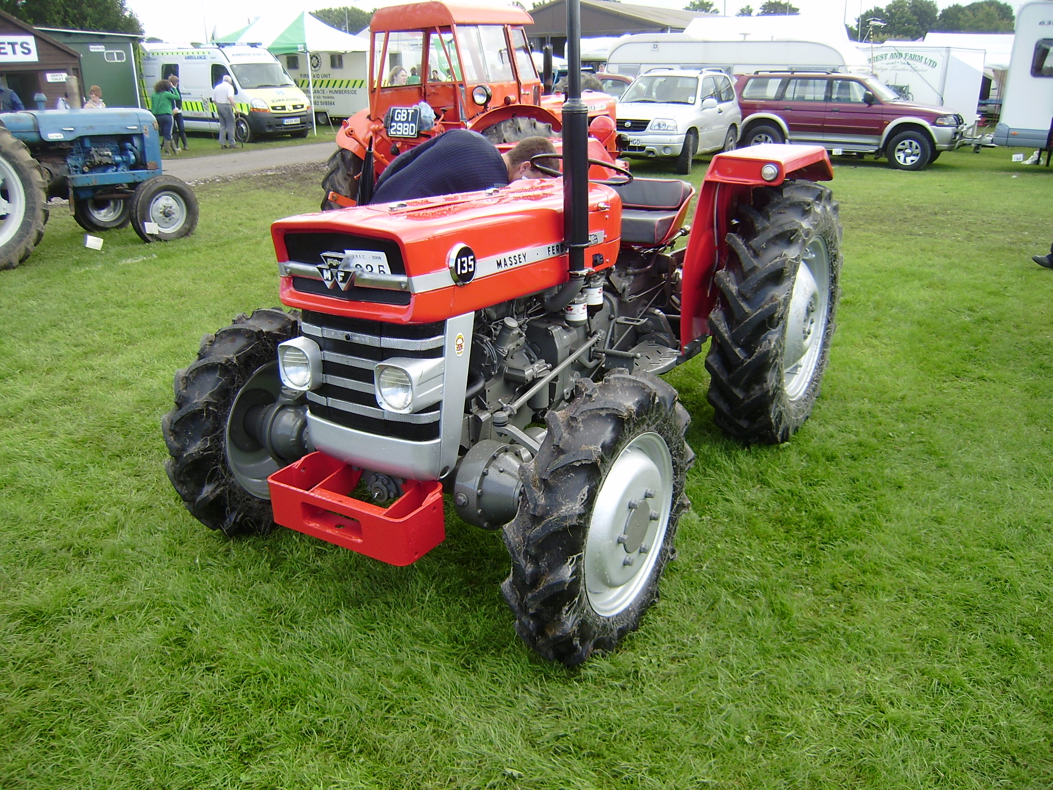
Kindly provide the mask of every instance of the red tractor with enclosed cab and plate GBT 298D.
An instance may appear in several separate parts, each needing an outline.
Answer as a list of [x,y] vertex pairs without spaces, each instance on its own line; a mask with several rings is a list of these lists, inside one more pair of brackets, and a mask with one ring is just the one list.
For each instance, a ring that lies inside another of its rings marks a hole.
[[[363,162],[379,176],[398,154],[451,129],[479,132],[495,144],[562,129],[562,94],[541,95],[523,25],[515,7],[432,2],[378,8],[370,22],[370,106],[337,132],[337,150],[322,181],[322,211],[353,205]],[[429,126],[421,104],[435,115]],[[615,99],[587,94],[590,118],[611,120],[599,135],[616,154]],[[365,202],[365,201],[358,201]]]

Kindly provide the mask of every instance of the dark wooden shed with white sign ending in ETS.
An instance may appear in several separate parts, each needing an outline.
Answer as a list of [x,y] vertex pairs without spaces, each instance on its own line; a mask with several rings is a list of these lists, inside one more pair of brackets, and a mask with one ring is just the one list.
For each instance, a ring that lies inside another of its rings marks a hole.
[[54,110],[66,77],[81,79],[77,51],[0,11],[0,84],[17,93],[26,110],[37,108],[37,94],[46,97],[44,108]]

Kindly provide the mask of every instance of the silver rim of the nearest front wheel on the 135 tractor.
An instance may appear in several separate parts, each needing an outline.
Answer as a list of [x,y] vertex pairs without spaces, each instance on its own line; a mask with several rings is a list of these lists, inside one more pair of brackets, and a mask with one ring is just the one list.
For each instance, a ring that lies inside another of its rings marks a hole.
[[602,617],[642,594],[661,553],[673,511],[673,457],[644,433],[627,445],[596,492],[584,548],[589,605]]

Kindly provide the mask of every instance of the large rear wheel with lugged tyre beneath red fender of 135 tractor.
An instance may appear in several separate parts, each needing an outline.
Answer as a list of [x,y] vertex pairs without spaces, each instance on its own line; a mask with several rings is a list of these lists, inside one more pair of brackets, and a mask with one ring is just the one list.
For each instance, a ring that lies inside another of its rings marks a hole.
[[728,234],[706,357],[714,420],[750,443],[787,441],[812,413],[830,356],[841,225],[826,186],[754,191]]

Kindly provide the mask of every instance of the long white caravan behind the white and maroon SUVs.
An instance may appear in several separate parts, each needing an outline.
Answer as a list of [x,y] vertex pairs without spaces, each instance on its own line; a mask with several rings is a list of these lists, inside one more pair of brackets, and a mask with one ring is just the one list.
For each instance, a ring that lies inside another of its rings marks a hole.
[[607,71],[635,77],[653,68],[720,68],[733,74],[761,71],[831,71],[869,74],[854,47],[819,41],[703,41],[683,33],[628,36],[611,48]]

